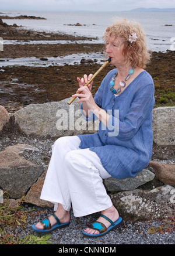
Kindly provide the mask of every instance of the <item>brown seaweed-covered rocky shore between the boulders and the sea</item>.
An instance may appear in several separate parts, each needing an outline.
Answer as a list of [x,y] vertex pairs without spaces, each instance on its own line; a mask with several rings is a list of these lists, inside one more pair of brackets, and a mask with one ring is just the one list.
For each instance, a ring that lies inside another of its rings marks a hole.
[[[3,23],[4,24],[4,23]],[[51,65],[48,67],[27,67],[27,66],[6,66],[3,67],[1,59],[19,57],[62,57],[72,53],[97,53],[103,52],[104,45],[97,43],[78,44],[79,40],[92,40],[93,38],[75,37],[62,35],[60,33],[33,32],[14,26],[3,26],[0,20],[0,32],[3,40],[68,40],[72,43],[65,44],[44,44],[44,45],[4,45],[0,51],[1,91],[0,105],[3,105],[8,112],[14,112],[28,104],[46,103],[60,101],[71,97],[78,88],[76,77],[87,73],[95,73],[101,66],[96,59],[85,63],[65,64],[64,66]],[[146,70],[151,74],[155,82],[156,106],[175,105],[175,77],[173,62],[174,51],[153,52],[151,62]],[[105,58],[104,58],[105,60]],[[93,83],[93,93],[99,88],[101,80],[113,69],[108,65],[102,70]]]

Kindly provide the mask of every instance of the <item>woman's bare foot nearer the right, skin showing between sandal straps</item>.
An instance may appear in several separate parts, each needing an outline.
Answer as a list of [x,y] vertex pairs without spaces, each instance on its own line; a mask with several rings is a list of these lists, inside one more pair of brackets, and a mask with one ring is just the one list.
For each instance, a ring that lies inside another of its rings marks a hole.
[[[114,206],[111,206],[110,208],[108,208],[104,211],[101,211],[101,214],[108,217],[113,222],[118,220],[118,217],[119,217],[118,211],[117,211],[117,209],[115,209]],[[97,221],[103,223],[107,228],[109,226],[111,226],[111,223],[108,220],[104,219],[103,217],[99,217],[99,219],[97,219]],[[94,230],[92,228],[85,228],[85,232],[88,234],[100,234],[99,231]]]

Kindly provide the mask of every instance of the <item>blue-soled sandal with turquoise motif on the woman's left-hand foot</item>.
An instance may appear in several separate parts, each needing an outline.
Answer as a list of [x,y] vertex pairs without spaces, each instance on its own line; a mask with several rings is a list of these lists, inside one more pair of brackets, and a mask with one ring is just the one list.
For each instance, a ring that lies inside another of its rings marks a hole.
[[38,233],[48,233],[50,231],[53,231],[55,228],[64,228],[69,226],[70,221],[67,223],[61,223],[54,213],[52,215],[54,216],[55,220],[57,220],[57,223],[54,224],[53,226],[51,226],[50,220],[46,219],[46,220],[40,221],[40,223],[43,225],[43,230],[36,228],[36,224],[31,225],[31,228],[34,231],[37,231]]

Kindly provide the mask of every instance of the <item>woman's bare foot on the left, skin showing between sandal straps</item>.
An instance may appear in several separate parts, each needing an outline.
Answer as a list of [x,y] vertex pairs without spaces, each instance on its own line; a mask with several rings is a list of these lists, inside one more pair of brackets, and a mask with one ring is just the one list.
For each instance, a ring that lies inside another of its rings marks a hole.
[[[58,209],[54,213],[61,223],[68,223],[70,220],[70,214],[69,211],[64,210],[61,204],[58,204]],[[55,220],[54,216],[49,216],[48,219],[50,220],[51,226],[57,223],[57,220]],[[35,226],[36,228],[43,230],[43,224],[41,222],[38,222]]]

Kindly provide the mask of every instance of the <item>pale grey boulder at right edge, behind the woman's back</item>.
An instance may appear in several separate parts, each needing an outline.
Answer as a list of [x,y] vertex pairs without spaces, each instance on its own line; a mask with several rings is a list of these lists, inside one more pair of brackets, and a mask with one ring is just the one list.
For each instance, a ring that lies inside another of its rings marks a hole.
[[153,109],[153,141],[157,145],[175,145],[175,107]]

